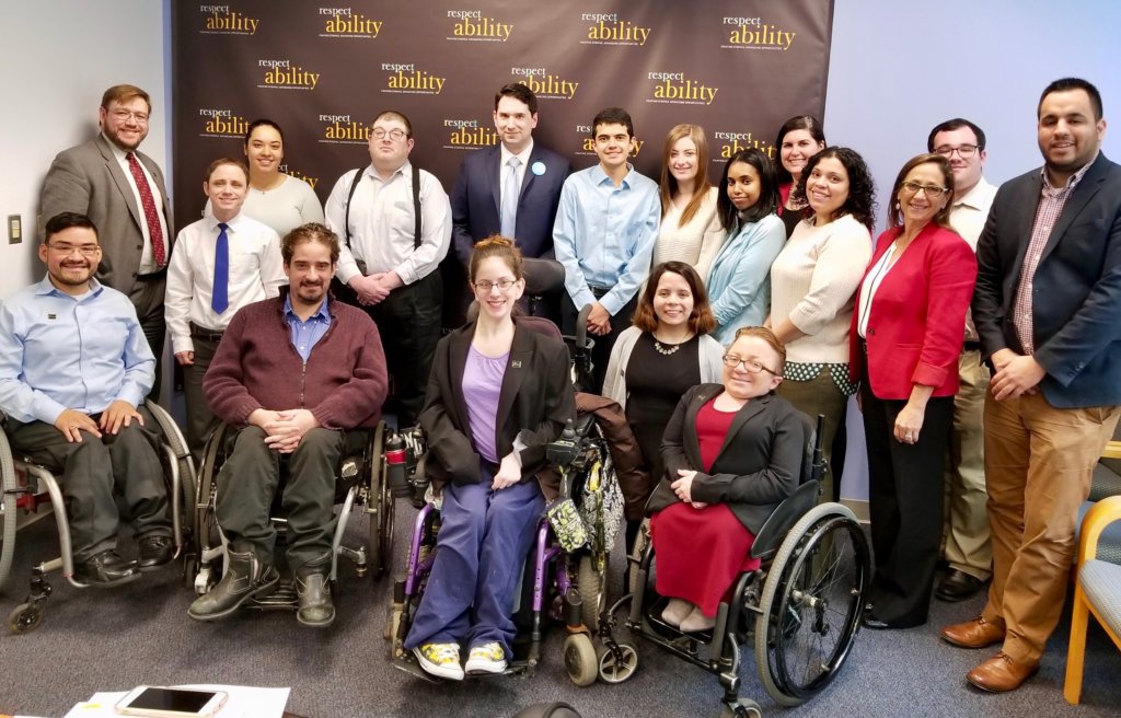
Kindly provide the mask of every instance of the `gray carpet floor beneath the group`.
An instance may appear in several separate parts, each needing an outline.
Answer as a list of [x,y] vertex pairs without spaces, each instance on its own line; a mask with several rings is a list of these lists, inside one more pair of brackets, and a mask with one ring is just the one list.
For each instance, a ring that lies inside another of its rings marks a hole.
[[[400,503],[395,549],[399,565],[411,515]],[[349,534],[363,535],[364,521],[353,514]],[[31,563],[56,547],[49,521],[20,532],[13,575],[0,593],[3,614],[26,594]],[[621,576],[618,554],[615,584]],[[196,623],[186,615],[193,594],[179,568],[176,563],[114,590],[78,590],[53,575],[55,591],[39,628],[0,636],[0,714],[63,716],[95,691],[137,684],[233,683],[291,687],[288,710],[309,718],[504,718],[527,705],[553,700],[568,701],[586,718],[720,715],[715,678],[650,644],[638,644],[641,665],[629,682],[618,686],[573,686],[564,671],[559,628],[550,632],[532,678],[435,686],[388,661],[389,644],[382,638],[391,594],[388,579],[374,585],[341,562],[337,621],[327,631],[311,631],[287,612],[242,612],[216,624]],[[615,596],[618,586],[613,588]],[[779,708],[767,697],[748,651],[741,694],[758,700],[767,715],[790,717],[1121,715],[1121,654],[1099,628],[1091,630],[1083,705],[1064,700],[1068,615],[1039,674],[1020,690],[993,696],[972,689],[965,672],[991,652],[949,646],[938,640],[937,630],[973,616],[980,606],[980,597],[955,605],[934,602],[926,626],[861,631],[836,681],[797,708]]]

